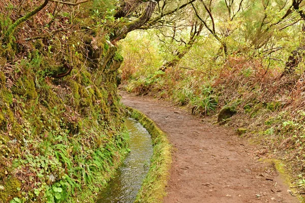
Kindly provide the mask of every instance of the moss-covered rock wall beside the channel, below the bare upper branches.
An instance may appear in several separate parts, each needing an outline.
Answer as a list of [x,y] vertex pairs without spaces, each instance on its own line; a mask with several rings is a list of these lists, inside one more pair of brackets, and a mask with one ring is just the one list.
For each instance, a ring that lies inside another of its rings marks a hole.
[[77,55],[80,35],[62,53],[73,67],[65,77],[54,77],[67,70],[56,49],[37,46],[42,39],[1,67],[0,202],[92,201],[127,154],[117,95],[123,59],[103,38],[89,50],[98,54]]

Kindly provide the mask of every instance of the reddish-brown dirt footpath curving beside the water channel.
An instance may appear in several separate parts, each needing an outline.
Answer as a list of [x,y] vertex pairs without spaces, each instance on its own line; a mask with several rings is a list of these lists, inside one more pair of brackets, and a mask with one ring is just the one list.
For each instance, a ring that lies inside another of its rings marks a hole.
[[234,131],[212,125],[169,103],[121,93],[123,103],[154,120],[175,147],[168,195],[171,202],[299,202],[271,164]]

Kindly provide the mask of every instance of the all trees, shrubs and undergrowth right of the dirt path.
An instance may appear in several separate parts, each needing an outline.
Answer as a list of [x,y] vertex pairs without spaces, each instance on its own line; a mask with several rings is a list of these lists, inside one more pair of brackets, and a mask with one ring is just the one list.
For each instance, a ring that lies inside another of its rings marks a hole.
[[150,20],[158,23],[119,43],[124,88],[194,115],[220,113],[214,120],[251,138],[257,156],[283,160],[303,193],[304,8],[300,0],[198,0],[172,13],[158,7]]

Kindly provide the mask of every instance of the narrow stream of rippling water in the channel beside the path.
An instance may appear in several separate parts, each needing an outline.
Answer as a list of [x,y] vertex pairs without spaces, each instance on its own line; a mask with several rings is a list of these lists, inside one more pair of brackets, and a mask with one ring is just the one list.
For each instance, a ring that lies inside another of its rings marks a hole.
[[150,165],[153,145],[147,130],[136,120],[125,122],[130,134],[130,154],[117,170],[116,176],[101,193],[98,203],[132,203]]

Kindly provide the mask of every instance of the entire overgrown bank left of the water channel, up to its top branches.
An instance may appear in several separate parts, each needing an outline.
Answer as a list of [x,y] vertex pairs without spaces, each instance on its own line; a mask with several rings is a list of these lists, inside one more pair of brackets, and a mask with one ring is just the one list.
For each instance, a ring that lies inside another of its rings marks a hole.
[[0,2],[0,202],[93,201],[127,154],[113,8]]

